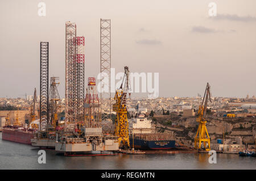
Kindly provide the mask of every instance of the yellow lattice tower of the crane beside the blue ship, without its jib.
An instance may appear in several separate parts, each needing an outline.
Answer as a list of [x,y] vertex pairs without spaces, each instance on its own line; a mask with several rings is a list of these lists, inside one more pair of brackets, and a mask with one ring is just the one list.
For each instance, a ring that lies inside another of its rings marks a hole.
[[[130,147],[127,108],[126,108],[126,92],[117,90],[114,97],[116,103],[113,105],[113,111],[117,113],[115,117],[115,136],[118,136],[119,146]],[[125,102],[124,102],[125,101]]]

